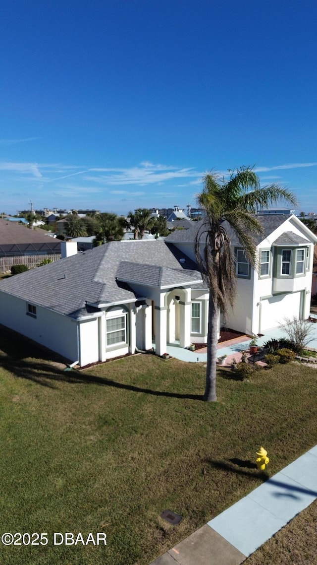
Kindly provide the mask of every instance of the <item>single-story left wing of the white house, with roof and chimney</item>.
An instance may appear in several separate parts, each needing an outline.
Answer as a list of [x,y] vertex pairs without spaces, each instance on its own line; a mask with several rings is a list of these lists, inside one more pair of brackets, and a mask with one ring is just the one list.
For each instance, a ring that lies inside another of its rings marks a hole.
[[0,323],[85,366],[151,349],[152,337],[158,355],[205,342],[207,298],[174,245],[113,241],[1,281]]

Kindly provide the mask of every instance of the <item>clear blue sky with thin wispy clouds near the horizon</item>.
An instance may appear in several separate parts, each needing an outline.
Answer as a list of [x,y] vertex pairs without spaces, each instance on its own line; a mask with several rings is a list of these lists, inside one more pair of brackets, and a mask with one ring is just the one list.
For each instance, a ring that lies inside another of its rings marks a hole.
[[317,212],[313,0],[2,0],[1,211],[195,205],[254,165]]

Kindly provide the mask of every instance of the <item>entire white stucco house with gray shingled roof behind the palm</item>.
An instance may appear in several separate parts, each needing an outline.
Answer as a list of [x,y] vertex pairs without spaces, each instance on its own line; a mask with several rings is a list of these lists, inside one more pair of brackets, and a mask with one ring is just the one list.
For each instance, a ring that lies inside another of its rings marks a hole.
[[[196,223],[165,241],[113,241],[0,282],[0,323],[80,366],[166,344],[205,343],[208,289],[195,263]],[[230,233],[237,302],[227,327],[248,334],[307,318],[317,237],[296,216],[261,216],[258,270]]]

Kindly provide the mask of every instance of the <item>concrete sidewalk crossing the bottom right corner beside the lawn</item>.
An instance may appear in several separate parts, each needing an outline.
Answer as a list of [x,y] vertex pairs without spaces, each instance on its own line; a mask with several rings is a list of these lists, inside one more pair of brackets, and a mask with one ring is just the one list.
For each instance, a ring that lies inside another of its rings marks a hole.
[[317,498],[317,446],[152,565],[239,565]]

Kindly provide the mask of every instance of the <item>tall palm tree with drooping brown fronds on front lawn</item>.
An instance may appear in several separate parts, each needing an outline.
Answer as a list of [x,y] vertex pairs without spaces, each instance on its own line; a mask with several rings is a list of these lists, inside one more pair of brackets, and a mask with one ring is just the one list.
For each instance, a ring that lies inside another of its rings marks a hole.
[[259,178],[250,167],[229,171],[228,181],[213,173],[206,173],[204,186],[197,195],[199,207],[205,211],[205,220],[197,232],[196,260],[202,277],[209,287],[208,341],[206,388],[204,400],[216,401],[215,375],[219,311],[226,316],[229,305],[234,306],[236,295],[235,259],[230,249],[230,226],[239,237],[246,259],[256,266],[254,236],[263,228],[255,215],[260,208],[283,199],[296,206],[296,197],[277,184],[261,188]]

